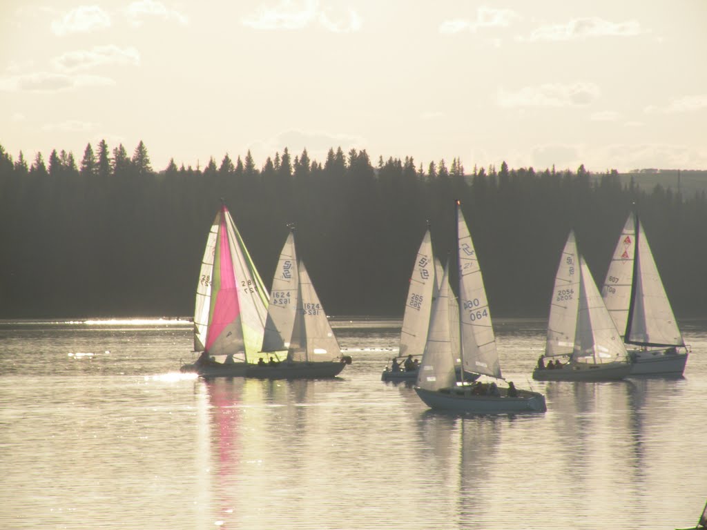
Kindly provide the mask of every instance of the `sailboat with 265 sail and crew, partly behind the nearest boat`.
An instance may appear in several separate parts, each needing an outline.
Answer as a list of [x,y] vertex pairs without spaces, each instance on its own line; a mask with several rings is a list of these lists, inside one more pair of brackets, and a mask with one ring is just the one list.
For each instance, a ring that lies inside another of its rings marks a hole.
[[432,300],[438,293],[437,281],[441,278],[436,274],[438,263],[432,254],[432,237],[428,228],[417,251],[410,276],[400,331],[399,353],[392,359],[391,366],[383,370],[380,375],[382,381],[414,382],[417,379],[418,366],[414,360],[419,362],[425,349]]

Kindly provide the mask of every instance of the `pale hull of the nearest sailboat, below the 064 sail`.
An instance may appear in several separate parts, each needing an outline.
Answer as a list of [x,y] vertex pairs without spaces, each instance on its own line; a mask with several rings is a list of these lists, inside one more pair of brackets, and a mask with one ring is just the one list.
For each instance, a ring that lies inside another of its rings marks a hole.
[[517,397],[478,396],[472,394],[471,389],[462,387],[437,391],[415,387],[415,391],[424,404],[440,411],[474,414],[547,411],[545,396],[527,390],[518,390]]

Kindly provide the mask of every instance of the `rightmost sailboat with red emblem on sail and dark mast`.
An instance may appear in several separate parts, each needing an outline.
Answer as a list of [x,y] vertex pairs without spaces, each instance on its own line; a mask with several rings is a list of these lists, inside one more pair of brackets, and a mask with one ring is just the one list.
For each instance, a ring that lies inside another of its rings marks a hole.
[[621,231],[602,296],[624,342],[634,346],[631,375],[682,376],[685,343],[635,213]]

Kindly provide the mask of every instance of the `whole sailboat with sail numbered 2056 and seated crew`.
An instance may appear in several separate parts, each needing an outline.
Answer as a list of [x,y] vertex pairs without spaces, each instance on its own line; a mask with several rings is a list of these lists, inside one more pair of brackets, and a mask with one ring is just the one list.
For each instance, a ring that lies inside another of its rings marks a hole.
[[[623,379],[631,371],[627,355],[571,230],[555,276],[545,353],[532,377],[538,381]],[[561,356],[568,362],[561,363]]]

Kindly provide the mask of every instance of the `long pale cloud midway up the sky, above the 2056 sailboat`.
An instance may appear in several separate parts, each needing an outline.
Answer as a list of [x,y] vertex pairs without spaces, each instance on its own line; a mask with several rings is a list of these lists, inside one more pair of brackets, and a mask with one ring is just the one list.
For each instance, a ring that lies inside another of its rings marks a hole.
[[599,88],[594,83],[548,83],[515,92],[501,88],[497,100],[501,107],[571,107],[588,105],[598,97]]

